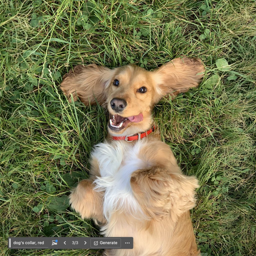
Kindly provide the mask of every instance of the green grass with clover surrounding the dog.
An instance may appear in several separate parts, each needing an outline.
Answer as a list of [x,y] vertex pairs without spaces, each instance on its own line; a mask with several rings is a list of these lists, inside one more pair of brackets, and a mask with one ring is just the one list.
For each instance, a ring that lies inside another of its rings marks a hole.
[[[7,249],[8,236],[98,236],[67,196],[88,177],[105,110],[69,104],[61,76],[81,63],[150,70],[179,55],[202,59],[205,79],[159,102],[155,118],[183,172],[200,181],[192,218],[202,255],[256,254],[256,8],[240,2],[3,0],[0,255],[97,254]],[[228,67],[216,66],[222,58]]]

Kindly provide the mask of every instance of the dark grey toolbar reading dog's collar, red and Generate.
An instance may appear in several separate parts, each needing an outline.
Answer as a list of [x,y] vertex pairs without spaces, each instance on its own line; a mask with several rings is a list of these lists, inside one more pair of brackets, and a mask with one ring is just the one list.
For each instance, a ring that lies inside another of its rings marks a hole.
[[133,249],[133,237],[9,237],[9,249]]

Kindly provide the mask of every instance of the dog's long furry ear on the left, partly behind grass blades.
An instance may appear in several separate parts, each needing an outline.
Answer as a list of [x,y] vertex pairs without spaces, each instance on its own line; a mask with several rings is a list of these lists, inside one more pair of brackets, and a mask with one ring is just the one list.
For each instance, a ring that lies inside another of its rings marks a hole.
[[85,105],[96,101],[102,105],[106,100],[106,89],[113,71],[96,64],[78,65],[63,76],[60,88],[69,102],[72,94],[74,101],[79,98]]

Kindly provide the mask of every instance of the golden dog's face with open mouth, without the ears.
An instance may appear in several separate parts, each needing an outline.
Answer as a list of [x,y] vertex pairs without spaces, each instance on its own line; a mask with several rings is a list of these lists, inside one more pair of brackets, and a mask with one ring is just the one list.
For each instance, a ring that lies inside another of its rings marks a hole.
[[106,103],[110,113],[108,129],[123,133],[151,119],[156,84],[151,72],[135,65],[117,68],[109,81]]

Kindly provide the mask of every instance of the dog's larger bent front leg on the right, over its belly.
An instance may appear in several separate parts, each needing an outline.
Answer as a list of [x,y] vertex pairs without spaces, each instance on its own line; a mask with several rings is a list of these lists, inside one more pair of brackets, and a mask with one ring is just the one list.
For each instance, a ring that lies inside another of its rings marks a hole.
[[191,176],[152,167],[133,172],[131,187],[144,212],[154,219],[162,219],[170,212],[181,216],[195,206],[194,190],[198,182]]

